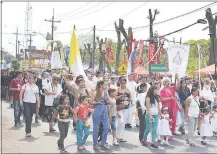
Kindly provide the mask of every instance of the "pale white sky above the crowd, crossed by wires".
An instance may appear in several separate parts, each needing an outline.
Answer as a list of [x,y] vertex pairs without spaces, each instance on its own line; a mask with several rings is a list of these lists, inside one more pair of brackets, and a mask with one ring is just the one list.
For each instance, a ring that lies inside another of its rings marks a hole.
[[[118,19],[124,19],[124,27],[135,28],[149,25],[148,9],[158,9],[155,22],[166,20],[194,9],[200,8],[211,2],[31,2],[32,6],[32,32],[37,35],[32,37],[32,46],[37,49],[45,49],[46,40],[43,36],[51,33],[51,23],[45,22],[45,19],[51,19],[53,8],[55,10],[55,23],[57,27],[54,32],[54,40],[60,40],[64,45],[69,45],[73,26],[76,25],[76,34],[78,36],[88,34],[93,35],[93,25],[96,25],[96,36],[117,40],[114,31],[114,22]],[[2,4],[2,47],[15,55],[16,36],[13,33],[18,28],[19,33],[24,34],[25,27],[25,9],[27,2],[4,2]],[[217,5],[211,6],[212,13],[217,12]],[[154,31],[159,35],[173,32],[198,19],[205,18],[205,9],[187,16],[171,20],[169,22],[155,25]],[[105,27],[106,26],[106,27]],[[176,39],[187,41],[191,39],[209,39],[209,31],[202,31],[207,25],[196,24],[182,32],[167,36],[169,40]],[[101,30],[101,31],[99,31]],[[102,31],[104,30],[104,31]],[[108,30],[108,31],[107,31]],[[134,38],[136,40],[147,39],[149,37],[149,28],[135,29]],[[41,33],[41,34],[39,34]],[[84,39],[85,37],[83,37]],[[123,36],[122,36],[123,38]],[[82,40],[83,40],[82,39]],[[21,41],[21,48],[24,44],[23,35],[18,38]],[[81,40],[81,41],[82,41]]]

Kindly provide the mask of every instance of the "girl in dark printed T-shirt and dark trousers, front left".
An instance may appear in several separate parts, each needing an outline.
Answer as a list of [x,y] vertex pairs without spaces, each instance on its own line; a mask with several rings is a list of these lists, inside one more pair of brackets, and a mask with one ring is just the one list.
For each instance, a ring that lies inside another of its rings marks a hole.
[[60,132],[60,139],[58,140],[58,147],[61,151],[65,151],[64,148],[64,139],[67,137],[68,128],[69,128],[69,113],[70,111],[74,113],[73,109],[68,105],[69,98],[67,95],[60,96],[60,105],[57,106],[53,117],[50,121],[50,127],[52,126],[52,122],[59,115],[58,119],[58,128]]

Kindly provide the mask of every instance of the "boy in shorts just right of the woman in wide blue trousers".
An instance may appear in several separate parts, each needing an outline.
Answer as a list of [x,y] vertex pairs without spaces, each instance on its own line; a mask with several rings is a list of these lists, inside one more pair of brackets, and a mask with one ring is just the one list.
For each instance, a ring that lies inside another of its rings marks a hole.
[[110,117],[110,123],[111,123],[111,129],[112,129],[112,136],[113,136],[113,145],[119,146],[119,143],[117,141],[116,136],[116,121],[117,121],[117,108],[116,108],[116,90],[110,88],[108,90],[109,93],[109,117]]

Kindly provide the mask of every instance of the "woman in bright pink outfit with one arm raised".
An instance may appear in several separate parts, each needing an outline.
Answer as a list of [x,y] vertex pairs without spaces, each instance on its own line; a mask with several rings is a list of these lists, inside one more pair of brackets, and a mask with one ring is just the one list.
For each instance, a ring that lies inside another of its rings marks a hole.
[[178,89],[180,85],[177,73],[175,75],[175,79],[176,79],[177,85],[175,83],[174,86],[171,86],[170,79],[167,77],[164,78],[163,79],[164,87],[160,91],[160,101],[162,103],[162,107],[168,107],[170,119],[172,119],[173,121],[172,128],[171,128],[171,132],[173,134],[175,133],[175,129],[176,129],[176,113],[178,110],[175,92],[176,92],[176,89]]

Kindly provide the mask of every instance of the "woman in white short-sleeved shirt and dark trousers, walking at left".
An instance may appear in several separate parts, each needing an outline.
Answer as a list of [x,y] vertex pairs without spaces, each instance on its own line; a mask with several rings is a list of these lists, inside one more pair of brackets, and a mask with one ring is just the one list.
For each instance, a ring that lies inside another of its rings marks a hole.
[[31,137],[32,116],[36,111],[36,106],[40,106],[39,89],[34,82],[35,77],[29,75],[28,83],[24,84],[20,91],[20,104],[23,104],[24,107],[25,131],[27,137]]

